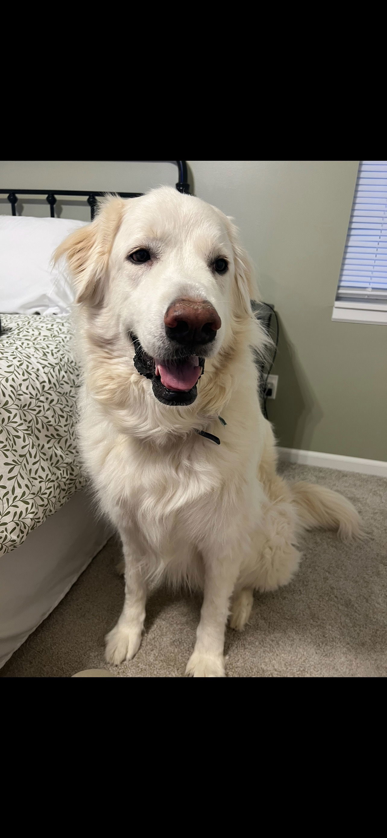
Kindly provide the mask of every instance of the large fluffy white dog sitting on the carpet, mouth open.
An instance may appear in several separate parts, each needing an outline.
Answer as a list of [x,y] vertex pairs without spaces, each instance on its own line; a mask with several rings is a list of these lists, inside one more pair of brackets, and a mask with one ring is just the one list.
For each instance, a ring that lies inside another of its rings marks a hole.
[[[276,474],[250,347],[263,331],[237,230],[175,189],[106,199],[59,247],[74,279],[80,447],[121,535],[125,603],[106,660],[131,660],[151,577],[203,590],[187,675],[224,676],[224,629],[290,581],[302,529],[360,535],[340,494]],[[204,368],[205,362],[205,368]],[[221,417],[221,418],[219,418]]]

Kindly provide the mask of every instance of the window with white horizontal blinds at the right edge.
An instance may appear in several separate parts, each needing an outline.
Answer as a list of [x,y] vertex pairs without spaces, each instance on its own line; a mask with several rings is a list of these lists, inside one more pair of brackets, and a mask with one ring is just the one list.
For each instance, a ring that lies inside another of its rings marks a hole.
[[387,323],[387,160],[361,160],[333,320]]

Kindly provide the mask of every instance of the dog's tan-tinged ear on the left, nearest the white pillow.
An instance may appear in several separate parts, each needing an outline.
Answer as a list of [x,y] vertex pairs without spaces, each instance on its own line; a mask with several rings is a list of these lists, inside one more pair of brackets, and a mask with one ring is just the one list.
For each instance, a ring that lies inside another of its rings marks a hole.
[[100,204],[95,220],[71,233],[54,252],[54,264],[62,257],[67,262],[75,287],[75,303],[101,303],[111,246],[125,205],[121,198],[107,198]]

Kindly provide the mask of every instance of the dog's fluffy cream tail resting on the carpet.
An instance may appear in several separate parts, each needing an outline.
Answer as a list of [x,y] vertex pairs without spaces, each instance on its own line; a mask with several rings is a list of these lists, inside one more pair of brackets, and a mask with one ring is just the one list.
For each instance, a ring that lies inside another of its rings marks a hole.
[[364,538],[359,513],[342,494],[303,480],[290,484],[290,488],[298,518],[306,530],[312,530],[314,527],[337,530],[339,538],[343,541]]

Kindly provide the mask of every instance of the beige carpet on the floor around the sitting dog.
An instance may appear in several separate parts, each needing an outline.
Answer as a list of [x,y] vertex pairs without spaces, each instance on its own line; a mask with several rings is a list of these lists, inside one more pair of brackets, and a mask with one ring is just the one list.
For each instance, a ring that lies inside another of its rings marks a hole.
[[[294,581],[255,595],[244,632],[227,629],[226,670],[231,677],[385,677],[387,675],[387,480],[326,468],[283,465],[292,479],[307,479],[346,494],[370,535],[343,545],[333,533],[305,535]],[[107,667],[104,635],[121,612],[123,582],[115,539],[95,556],[78,582],[0,670],[0,676],[68,677],[108,668],[119,677],[183,675],[193,649],[200,599],[159,590],[150,597],[142,646],[131,663]]]

